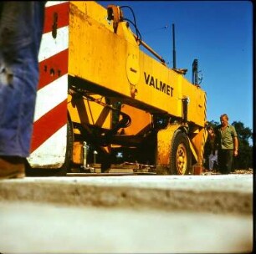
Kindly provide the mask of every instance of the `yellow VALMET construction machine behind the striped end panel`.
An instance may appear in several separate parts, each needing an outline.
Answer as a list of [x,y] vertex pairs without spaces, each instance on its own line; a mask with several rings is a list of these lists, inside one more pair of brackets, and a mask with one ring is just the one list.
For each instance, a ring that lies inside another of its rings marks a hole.
[[69,3],[69,170],[200,174],[206,93],[133,30],[121,7]]

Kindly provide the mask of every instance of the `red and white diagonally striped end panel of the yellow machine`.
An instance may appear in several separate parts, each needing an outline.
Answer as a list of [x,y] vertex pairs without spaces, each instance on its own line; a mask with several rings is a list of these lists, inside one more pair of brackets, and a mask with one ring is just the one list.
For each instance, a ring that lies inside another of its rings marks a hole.
[[[56,34],[53,29],[56,26]],[[32,167],[60,167],[67,143],[69,58],[69,2],[45,5],[44,33],[38,54],[39,82],[33,139],[28,163]]]

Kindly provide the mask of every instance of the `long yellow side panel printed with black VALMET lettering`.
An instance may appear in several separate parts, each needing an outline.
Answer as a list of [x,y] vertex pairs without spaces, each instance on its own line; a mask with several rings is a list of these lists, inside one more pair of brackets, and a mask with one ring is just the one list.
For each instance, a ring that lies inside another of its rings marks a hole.
[[106,16],[98,3],[70,3],[69,75],[86,80],[92,92],[151,114],[182,118],[182,99],[187,99],[187,121],[204,126],[205,92],[142,52],[126,22],[114,33]]

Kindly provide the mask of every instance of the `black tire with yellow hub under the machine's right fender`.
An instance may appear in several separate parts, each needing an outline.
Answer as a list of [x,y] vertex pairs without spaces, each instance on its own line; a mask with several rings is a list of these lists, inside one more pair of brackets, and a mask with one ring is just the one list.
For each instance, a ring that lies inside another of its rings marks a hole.
[[192,156],[187,135],[182,130],[177,130],[172,140],[170,174],[188,175],[191,162]]

